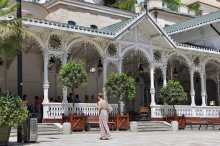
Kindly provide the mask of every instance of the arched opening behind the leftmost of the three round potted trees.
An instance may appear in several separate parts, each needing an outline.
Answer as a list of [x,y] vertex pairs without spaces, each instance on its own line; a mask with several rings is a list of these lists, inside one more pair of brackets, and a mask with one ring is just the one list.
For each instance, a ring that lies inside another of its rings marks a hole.
[[[88,74],[86,84],[78,87],[75,94],[80,97],[80,102],[96,102],[96,95],[103,90],[103,60],[98,48],[87,41],[72,44],[69,51],[69,59],[83,62]],[[70,93],[71,90],[68,90]]]

